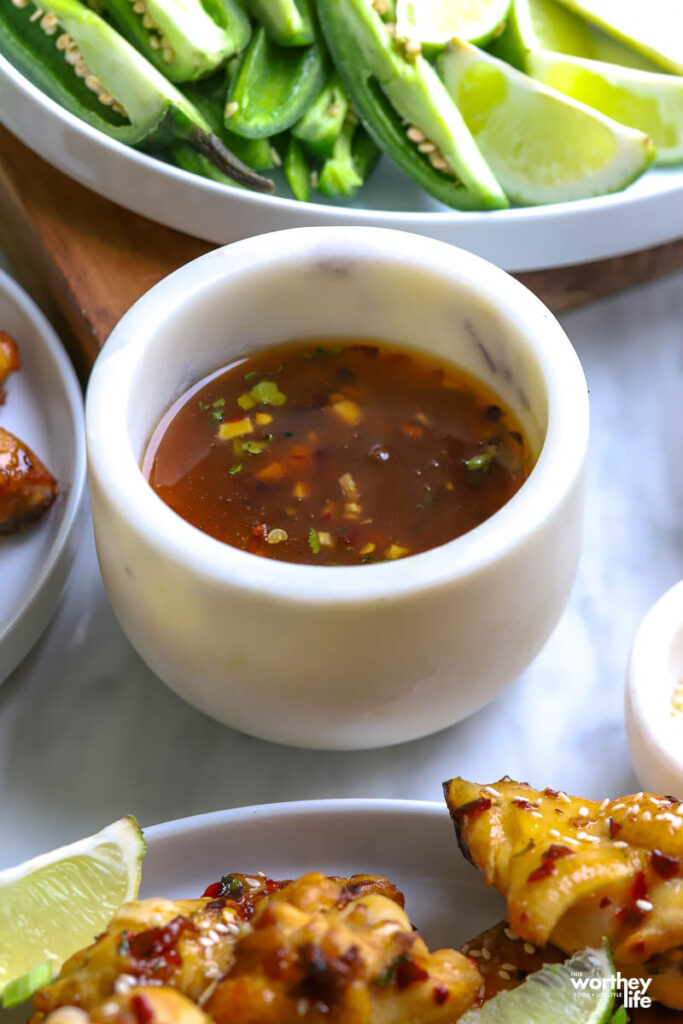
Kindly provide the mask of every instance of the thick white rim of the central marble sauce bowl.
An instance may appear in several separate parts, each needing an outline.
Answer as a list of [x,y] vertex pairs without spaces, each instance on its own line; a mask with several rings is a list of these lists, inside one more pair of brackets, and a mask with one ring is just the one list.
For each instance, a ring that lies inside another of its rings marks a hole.
[[[319,244],[312,248],[316,240]],[[119,440],[127,433],[126,392],[135,372],[136,341],[158,325],[159,308],[171,315],[205,286],[268,259],[292,254],[339,259],[345,246],[349,256],[355,251],[367,257],[374,250],[379,258],[386,258],[391,250],[399,258],[421,261],[425,269],[442,267],[442,243],[382,228],[294,228],[258,236],[208,253],[156,285],[123,316],[95,361],[86,395],[91,467],[108,480],[109,500],[124,519],[135,521],[160,552],[170,548],[174,560],[189,573],[213,582],[229,579],[233,586],[254,592],[287,594],[302,604],[357,605],[401,597],[489,565],[539,529],[577,484],[589,429],[588,388],[579,356],[558,322],[531,292],[493,264],[454,247],[449,258],[465,285],[512,318],[520,318],[525,333],[533,336],[548,390],[550,418],[539,460],[524,485],[495,515],[465,536],[405,562],[309,566],[259,558],[222,544],[190,526],[154,493],[134,454]],[[93,437],[96,443],[91,443]]]

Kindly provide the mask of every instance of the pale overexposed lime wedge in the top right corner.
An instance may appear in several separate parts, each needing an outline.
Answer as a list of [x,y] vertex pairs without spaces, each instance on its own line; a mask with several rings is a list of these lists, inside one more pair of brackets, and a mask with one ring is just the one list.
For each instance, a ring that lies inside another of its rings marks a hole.
[[680,0],[561,0],[655,63],[683,75],[683,3]]

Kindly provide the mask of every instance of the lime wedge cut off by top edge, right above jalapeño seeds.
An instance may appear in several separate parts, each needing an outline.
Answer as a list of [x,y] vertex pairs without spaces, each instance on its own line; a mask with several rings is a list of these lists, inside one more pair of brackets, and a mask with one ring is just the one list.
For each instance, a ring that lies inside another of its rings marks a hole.
[[510,0],[398,0],[396,34],[427,47],[452,39],[485,45],[500,36]]

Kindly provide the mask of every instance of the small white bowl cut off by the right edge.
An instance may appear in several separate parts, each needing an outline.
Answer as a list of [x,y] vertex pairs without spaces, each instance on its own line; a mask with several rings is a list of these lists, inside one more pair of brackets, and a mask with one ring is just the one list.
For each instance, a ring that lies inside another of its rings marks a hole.
[[683,801],[683,712],[674,695],[683,683],[683,581],[643,618],[631,650],[626,726],[636,774],[651,793]]

